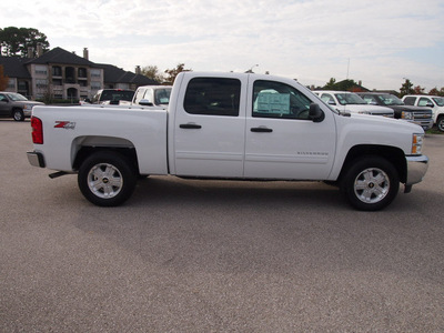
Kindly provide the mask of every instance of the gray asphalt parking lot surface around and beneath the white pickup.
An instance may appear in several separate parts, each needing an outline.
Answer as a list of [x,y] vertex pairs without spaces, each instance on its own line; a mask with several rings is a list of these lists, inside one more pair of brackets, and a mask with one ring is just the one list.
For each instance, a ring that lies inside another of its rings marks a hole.
[[443,332],[444,135],[382,212],[323,183],[151,176],[119,208],[0,120],[0,332]]

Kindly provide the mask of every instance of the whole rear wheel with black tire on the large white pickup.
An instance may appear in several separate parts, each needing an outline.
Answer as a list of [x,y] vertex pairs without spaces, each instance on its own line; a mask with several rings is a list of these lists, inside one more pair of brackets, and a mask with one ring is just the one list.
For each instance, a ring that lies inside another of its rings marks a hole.
[[100,151],[83,161],[78,183],[84,198],[93,204],[115,206],[134,192],[137,172],[124,155]]

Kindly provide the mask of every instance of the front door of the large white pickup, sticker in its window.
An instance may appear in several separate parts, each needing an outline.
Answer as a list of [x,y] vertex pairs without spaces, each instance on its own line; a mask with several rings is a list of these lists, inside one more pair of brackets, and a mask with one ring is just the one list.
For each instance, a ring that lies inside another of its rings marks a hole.
[[310,120],[312,101],[286,83],[252,80],[249,93],[245,178],[326,179],[335,151],[333,115]]

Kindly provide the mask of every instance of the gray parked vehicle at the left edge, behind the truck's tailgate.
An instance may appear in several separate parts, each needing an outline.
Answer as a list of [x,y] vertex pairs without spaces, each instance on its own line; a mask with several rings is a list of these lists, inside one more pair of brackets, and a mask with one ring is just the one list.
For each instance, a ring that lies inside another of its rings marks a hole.
[[31,117],[34,105],[44,105],[44,103],[29,101],[24,95],[17,92],[0,91],[0,117],[23,121],[24,118]]

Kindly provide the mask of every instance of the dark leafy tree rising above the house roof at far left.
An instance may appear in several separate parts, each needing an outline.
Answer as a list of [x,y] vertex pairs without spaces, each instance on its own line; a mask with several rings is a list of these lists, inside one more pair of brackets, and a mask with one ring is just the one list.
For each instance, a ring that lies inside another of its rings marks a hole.
[[0,29],[0,56],[28,56],[28,48],[37,54],[37,46],[41,44],[43,51],[49,50],[47,36],[34,28],[8,27]]

